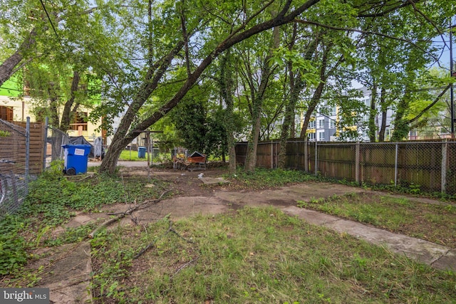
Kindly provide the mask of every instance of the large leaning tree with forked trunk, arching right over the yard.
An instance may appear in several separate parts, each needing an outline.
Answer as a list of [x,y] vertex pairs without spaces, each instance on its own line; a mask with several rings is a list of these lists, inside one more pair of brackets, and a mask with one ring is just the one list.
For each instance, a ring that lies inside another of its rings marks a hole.
[[[192,73],[190,73],[177,93],[175,93],[175,95],[170,98],[170,100],[168,100],[165,104],[160,106],[157,111],[153,112],[145,119],[142,119],[130,129],[132,122],[135,120],[136,113],[142,107],[142,105],[144,105],[152,92],[157,88],[158,83],[160,83],[162,80],[167,71],[167,68],[169,68],[170,64],[172,63],[172,60],[177,56],[178,53],[180,53],[180,51],[182,51],[182,48],[185,45],[185,42],[182,38],[175,38],[174,44],[171,48],[168,48],[167,53],[162,55],[162,57],[155,61],[153,65],[149,65],[146,68],[147,72],[144,74],[145,78],[142,80],[142,83],[140,83],[138,90],[136,90],[137,93],[135,93],[133,96],[133,100],[128,106],[128,110],[125,112],[125,115],[120,122],[118,132],[115,132],[115,135],[113,136],[113,142],[110,145],[110,149],[108,150],[108,153],[100,165],[100,172],[113,173],[115,171],[115,164],[117,163],[120,152],[124,149],[125,145],[128,145],[128,143],[131,142],[131,140],[133,140],[133,138],[135,138],[142,130],[145,130],[150,125],[153,125],[155,122],[157,122],[157,120],[160,120],[160,118],[162,118],[164,115],[170,112],[172,108],[180,103],[180,100],[182,100],[192,85],[197,82],[199,76],[202,75],[204,70],[206,70],[212,61],[214,61],[214,58],[217,58],[223,51],[227,51],[228,48],[256,35],[257,33],[261,33],[262,31],[273,28],[274,26],[280,26],[281,24],[293,21],[296,16],[299,16],[307,9],[316,5],[319,0],[305,1],[299,6],[295,6],[294,9],[291,8],[292,1],[287,0],[284,5],[281,6],[279,13],[274,18],[264,19],[266,21],[254,23],[257,16],[259,14],[264,14],[266,8],[273,2],[274,1],[269,2],[269,4],[266,4],[258,11],[245,11],[242,14],[243,18],[239,24],[232,22],[236,24],[236,26],[231,34],[222,38],[217,38],[216,41],[209,41],[207,43],[207,49],[204,50],[205,56],[201,61],[199,61],[199,64],[196,66],[196,68],[192,70]],[[188,4],[188,2],[186,3]],[[192,7],[195,9],[202,9],[197,4],[193,4]],[[219,11],[223,11],[223,9],[221,9],[218,5],[218,7],[209,8],[208,11],[212,14],[215,14],[214,11],[217,11],[218,13]],[[199,12],[199,14],[194,14],[194,16],[197,16],[197,20],[200,20],[202,18],[201,15],[201,12]],[[204,16],[208,16],[208,14]],[[177,16],[177,20],[180,20],[179,16]],[[187,33],[195,32],[196,26],[202,22],[203,21],[195,22],[195,25],[193,25],[193,27],[187,26]]]

